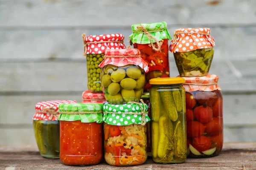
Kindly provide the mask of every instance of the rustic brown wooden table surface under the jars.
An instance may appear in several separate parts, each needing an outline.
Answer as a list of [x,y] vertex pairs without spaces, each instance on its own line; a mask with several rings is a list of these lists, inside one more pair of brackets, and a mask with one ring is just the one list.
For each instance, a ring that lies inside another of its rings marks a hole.
[[[35,146],[0,146],[0,170],[119,170],[105,162],[94,166],[66,166],[59,159],[44,159]],[[256,142],[224,143],[219,156],[208,159],[187,159],[183,164],[154,164],[149,157],[145,164],[122,167],[122,170],[256,170]]]

